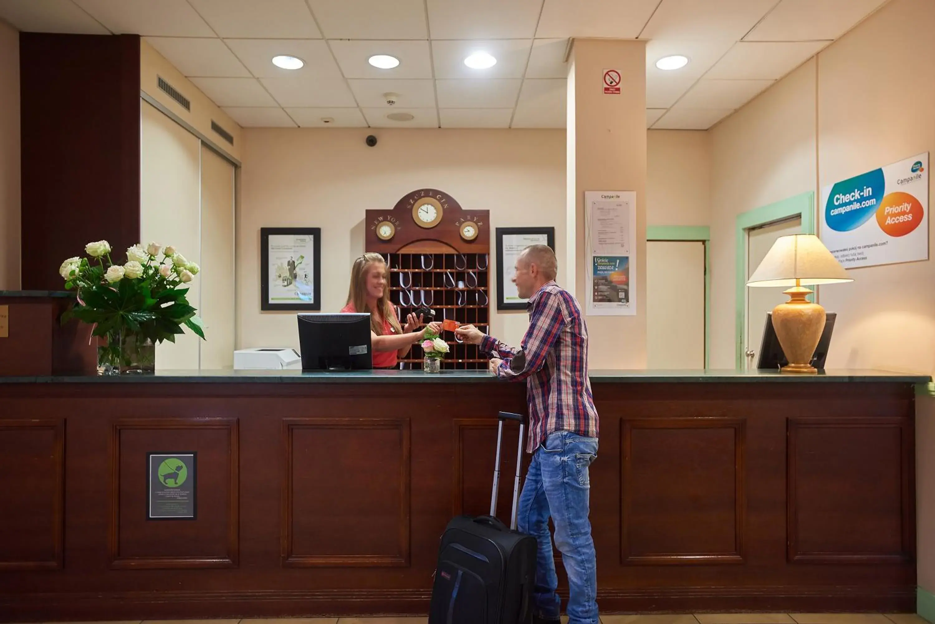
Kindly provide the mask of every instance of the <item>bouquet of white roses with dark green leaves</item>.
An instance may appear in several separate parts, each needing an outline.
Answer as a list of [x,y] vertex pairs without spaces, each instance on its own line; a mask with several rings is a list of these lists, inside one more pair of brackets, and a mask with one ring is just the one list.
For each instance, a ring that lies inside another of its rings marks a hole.
[[[94,325],[92,335],[106,336],[108,346],[99,350],[99,359],[115,368],[122,364],[122,345],[130,337],[135,344],[175,342],[188,327],[205,338],[201,319],[185,297],[198,265],[187,261],[172,247],[151,242],[126,250],[126,262],[114,264],[107,240],[89,242],[89,257],[65,260],[59,273],[65,289],[77,289],[76,304],[63,316]],[[161,256],[161,257],[160,257]]]

